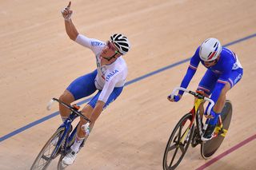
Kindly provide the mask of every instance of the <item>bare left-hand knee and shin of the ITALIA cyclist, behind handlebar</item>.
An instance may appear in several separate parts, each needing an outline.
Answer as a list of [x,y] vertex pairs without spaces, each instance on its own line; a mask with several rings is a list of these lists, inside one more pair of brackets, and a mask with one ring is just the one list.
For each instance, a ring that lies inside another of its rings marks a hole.
[[[70,103],[74,101],[74,96],[68,90],[65,90],[64,93],[62,93],[62,96],[59,97],[59,100],[70,105]],[[61,114],[62,117],[70,116],[70,110],[66,109],[66,107],[61,104],[59,104],[59,113]]]

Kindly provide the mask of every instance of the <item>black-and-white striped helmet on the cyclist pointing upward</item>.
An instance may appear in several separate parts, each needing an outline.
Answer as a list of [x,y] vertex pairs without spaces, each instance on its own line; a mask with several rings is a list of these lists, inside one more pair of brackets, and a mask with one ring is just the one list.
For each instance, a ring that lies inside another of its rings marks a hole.
[[114,34],[110,36],[110,42],[113,42],[118,51],[123,55],[130,49],[130,42],[126,36],[122,34]]

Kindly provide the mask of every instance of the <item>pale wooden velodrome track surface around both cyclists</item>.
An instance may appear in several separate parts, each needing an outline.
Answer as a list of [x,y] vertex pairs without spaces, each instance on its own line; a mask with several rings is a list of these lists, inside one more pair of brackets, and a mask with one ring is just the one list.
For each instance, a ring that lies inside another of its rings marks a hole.
[[[47,102],[74,78],[95,69],[95,59],[66,35],[60,11],[68,1],[0,4],[0,169],[29,169],[61,124],[55,116],[58,106],[48,112]],[[162,169],[170,132],[194,100],[186,95],[170,103],[166,96],[180,85],[188,65],[184,60],[209,37],[238,54],[244,75],[228,94],[233,120],[218,152],[203,160],[199,147],[189,148],[178,169],[255,169],[254,0],[77,0],[71,8],[81,34],[106,41],[121,32],[132,49],[125,56],[129,84],[102,113],[69,169]],[[189,89],[197,87],[204,71],[201,65]]]

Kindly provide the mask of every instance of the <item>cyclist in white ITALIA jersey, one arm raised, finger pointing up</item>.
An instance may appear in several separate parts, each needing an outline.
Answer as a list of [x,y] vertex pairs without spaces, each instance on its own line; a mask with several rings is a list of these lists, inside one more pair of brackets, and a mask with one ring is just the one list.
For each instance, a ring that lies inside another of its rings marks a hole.
[[[122,55],[126,54],[130,49],[130,42],[122,34],[114,34],[110,37],[110,41],[102,42],[94,38],[87,38],[82,34],[78,34],[71,15],[71,2],[62,10],[62,16],[65,19],[66,34],[74,42],[91,49],[96,56],[97,69],[92,73],[88,73],[74,80],[60,97],[61,101],[70,104],[82,97],[87,97],[98,90],[98,93],[89,101],[82,109],[82,114],[91,121],[90,127],[86,127],[86,120],[80,120],[78,132],[75,137],[74,144],[70,147],[71,151],[63,158],[63,164],[73,164],[77,156],[78,149],[83,140],[89,136],[94,122],[97,120],[102,110],[110,105],[120,93],[127,77],[126,61]],[[66,121],[70,111],[59,105],[59,111],[62,121]]]

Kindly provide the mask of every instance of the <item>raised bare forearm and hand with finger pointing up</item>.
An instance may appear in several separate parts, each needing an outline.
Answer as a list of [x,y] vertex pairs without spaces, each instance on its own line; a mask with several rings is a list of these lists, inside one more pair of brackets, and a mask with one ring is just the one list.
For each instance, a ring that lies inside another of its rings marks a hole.
[[71,20],[73,11],[70,10],[70,6],[71,2],[69,2],[68,6],[62,10],[62,16],[65,19],[66,34],[70,37],[71,40],[75,41],[75,39],[78,37],[78,30],[75,28]]

